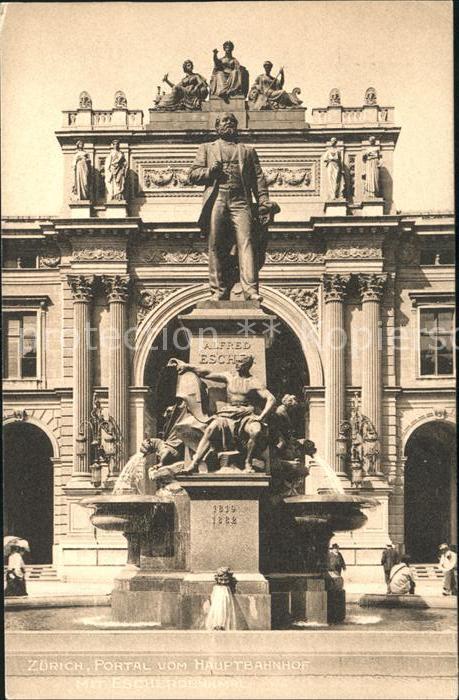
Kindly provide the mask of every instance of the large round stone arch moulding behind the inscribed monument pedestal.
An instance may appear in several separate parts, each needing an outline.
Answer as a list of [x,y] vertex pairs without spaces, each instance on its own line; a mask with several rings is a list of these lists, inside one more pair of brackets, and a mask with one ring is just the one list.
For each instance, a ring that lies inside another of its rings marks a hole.
[[[324,372],[317,331],[306,314],[278,289],[261,285],[263,306],[279,316],[298,337],[311,386],[324,385]],[[134,351],[134,386],[144,385],[145,367],[152,344],[163,328],[178,314],[209,297],[207,284],[198,284],[174,291],[145,316],[140,324]]]

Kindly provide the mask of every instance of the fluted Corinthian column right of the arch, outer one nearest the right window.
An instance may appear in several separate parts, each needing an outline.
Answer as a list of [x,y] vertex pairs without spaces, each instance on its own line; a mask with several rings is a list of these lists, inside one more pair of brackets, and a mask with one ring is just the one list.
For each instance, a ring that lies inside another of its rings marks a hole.
[[[386,274],[359,275],[362,294],[362,324],[366,329],[366,349],[362,353],[362,399],[361,410],[378,433],[381,444],[382,413],[382,342],[381,299],[386,283]],[[381,461],[378,461],[380,473]]]

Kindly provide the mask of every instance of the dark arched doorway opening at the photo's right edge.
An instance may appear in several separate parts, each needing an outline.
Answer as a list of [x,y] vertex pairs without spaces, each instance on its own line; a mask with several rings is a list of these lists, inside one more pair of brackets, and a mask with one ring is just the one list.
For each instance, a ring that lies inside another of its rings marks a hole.
[[405,463],[405,551],[434,562],[455,541],[456,441],[452,425],[424,423],[410,436]]

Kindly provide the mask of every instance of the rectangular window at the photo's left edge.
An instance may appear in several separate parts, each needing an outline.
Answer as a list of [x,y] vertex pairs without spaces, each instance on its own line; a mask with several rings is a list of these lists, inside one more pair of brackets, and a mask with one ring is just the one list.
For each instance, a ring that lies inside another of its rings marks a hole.
[[37,314],[6,313],[3,316],[3,377],[37,376]]

